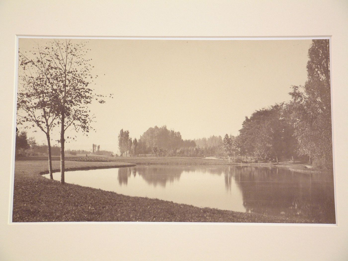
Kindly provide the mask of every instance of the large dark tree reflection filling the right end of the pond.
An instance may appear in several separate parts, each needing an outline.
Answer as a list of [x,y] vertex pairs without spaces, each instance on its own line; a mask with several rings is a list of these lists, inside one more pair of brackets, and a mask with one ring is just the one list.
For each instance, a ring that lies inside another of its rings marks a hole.
[[332,176],[267,167],[235,167],[233,171],[247,212],[335,223]]

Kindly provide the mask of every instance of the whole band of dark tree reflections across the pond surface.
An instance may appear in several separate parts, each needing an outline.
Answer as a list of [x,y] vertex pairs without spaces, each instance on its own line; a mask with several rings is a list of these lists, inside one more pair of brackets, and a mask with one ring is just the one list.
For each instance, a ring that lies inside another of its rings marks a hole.
[[[334,185],[332,174],[308,174],[275,167],[250,166],[184,166],[138,165],[118,169],[118,182],[126,185],[133,175],[149,185],[162,188],[167,182],[180,182],[180,177],[193,174],[210,174],[224,177],[225,191],[230,197],[240,190],[246,212],[276,216],[299,216],[315,221],[335,223]],[[203,178],[204,175],[202,175]],[[200,179],[200,175],[197,176]],[[196,180],[191,181],[196,182]],[[222,181],[223,182],[223,181]],[[197,185],[199,186],[197,180]],[[195,190],[195,184],[191,184]],[[215,193],[207,189],[209,193]],[[221,187],[221,189],[223,189]],[[217,187],[217,190],[221,189]],[[242,203],[242,202],[241,202]],[[227,209],[227,208],[225,208]]]

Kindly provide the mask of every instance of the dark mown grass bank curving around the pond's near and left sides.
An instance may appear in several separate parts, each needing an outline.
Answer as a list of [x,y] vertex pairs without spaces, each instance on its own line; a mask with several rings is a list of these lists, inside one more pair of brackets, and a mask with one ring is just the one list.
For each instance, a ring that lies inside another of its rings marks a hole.
[[[110,168],[121,162],[66,161],[68,169]],[[212,208],[199,208],[165,200],[130,197],[114,192],[61,185],[46,179],[46,161],[16,161],[13,222],[41,221],[169,221],[169,222],[256,222],[316,223],[314,220],[248,214]],[[59,168],[59,161],[53,162]]]

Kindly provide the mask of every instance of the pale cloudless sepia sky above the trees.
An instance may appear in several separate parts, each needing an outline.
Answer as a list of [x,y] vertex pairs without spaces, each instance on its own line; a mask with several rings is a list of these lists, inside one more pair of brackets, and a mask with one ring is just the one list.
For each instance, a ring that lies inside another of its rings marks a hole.
[[[50,39],[20,38],[19,49]],[[149,127],[166,125],[183,139],[238,135],[246,116],[290,100],[292,85],[304,85],[311,40],[73,39],[88,43],[86,58],[98,75],[90,87],[113,94],[92,103],[95,132],[77,133],[66,149],[118,153],[120,129],[139,139]],[[20,86],[18,86],[20,88]],[[21,128],[19,128],[21,130]],[[27,129],[39,143],[45,134]],[[53,144],[59,139],[53,129]],[[65,136],[72,136],[71,130]]]

